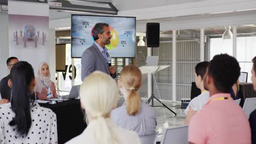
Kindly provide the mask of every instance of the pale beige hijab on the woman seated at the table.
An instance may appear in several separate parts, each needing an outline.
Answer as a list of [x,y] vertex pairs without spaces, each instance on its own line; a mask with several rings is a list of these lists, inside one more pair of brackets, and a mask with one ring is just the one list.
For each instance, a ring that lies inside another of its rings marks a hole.
[[[43,67],[44,64],[46,64],[46,65],[49,67],[49,64],[46,63],[46,62],[42,62],[42,63],[40,63],[40,65],[39,65],[39,69],[38,69],[38,72],[37,72],[37,78],[36,78],[37,84],[36,84],[36,86],[34,87],[34,91],[36,91],[36,92],[38,92],[38,93],[41,93],[41,92],[42,92],[42,89],[43,89],[44,87],[46,87],[46,86],[44,85],[44,83],[45,83],[48,87],[51,87],[51,83],[53,83],[53,82],[51,81],[51,74],[50,74],[50,71],[49,71],[49,75],[48,75],[48,76],[44,76],[44,75],[42,74],[41,69],[42,69],[42,67]],[[50,68],[49,68],[49,70],[50,70]],[[43,81],[44,83],[43,83],[42,81]]]

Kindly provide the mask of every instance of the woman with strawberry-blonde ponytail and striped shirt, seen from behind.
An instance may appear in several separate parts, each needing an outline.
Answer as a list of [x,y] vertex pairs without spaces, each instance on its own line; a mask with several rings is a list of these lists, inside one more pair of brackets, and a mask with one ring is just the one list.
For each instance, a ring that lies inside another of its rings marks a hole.
[[135,65],[123,68],[119,80],[125,104],[111,112],[111,118],[121,128],[136,131],[138,135],[155,133],[156,116],[151,106],[141,101],[137,92],[142,86],[141,70]]

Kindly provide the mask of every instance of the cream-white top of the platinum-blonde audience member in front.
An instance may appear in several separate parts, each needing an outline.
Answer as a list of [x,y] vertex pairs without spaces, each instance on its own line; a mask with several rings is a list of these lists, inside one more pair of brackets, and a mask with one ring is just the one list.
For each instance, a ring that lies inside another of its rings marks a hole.
[[[119,143],[122,144],[140,144],[141,141],[139,140],[138,134],[134,131],[125,130],[123,128],[118,127],[112,119],[107,118],[106,123],[108,123],[108,127],[112,131],[112,133],[117,136]],[[83,131],[82,134],[74,137],[72,140],[66,142],[66,144],[94,144],[97,143],[92,130],[94,126],[88,125],[88,127]]]

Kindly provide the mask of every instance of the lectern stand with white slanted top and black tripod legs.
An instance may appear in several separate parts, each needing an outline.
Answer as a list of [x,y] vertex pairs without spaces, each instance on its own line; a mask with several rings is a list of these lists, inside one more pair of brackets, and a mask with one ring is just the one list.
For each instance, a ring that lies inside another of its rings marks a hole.
[[[156,89],[158,90],[158,94],[159,94],[159,97],[160,97],[160,93],[159,93],[159,89],[158,89],[158,83],[156,83],[156,80],[155,80],[155,73],[157,71],[160,71],[162,69],[165,69],[167,67],[170,67],[170,65],[158,65],[158,66],[143,66],[143,67],[140,67],[139,69],[141,69],[142,71],[142,74],[152,74],[153,75],[153,79],[155,81],[155,85],[156,85]],[[161,100],[159,100],[158,98],[155,97],[155,94],[154,94],[154,86],[153,86],[154,82],[152,81],[152,95],[151,97],[148,99],[148,104],[150,104],[150,101],[152,101],[152,105],[151,106],[154,106],[154,99],[156,99],[159,103],[161,103],[164,107],[166,107],[166,109],[168,109],[169,111],[171,111],[175,116],[177,115],[176,112],[174,112],[173,110],[171,110],[167,105],[165,105],[164,103],[162,103]]]

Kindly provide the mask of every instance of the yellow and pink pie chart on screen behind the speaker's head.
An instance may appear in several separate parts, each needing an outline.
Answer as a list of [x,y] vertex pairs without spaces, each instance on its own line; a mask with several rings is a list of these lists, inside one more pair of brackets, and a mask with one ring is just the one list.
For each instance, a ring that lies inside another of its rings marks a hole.
[[[94,29],[94,27],[91,29],[91,38],[92,40],[94,40],[94,37],[92,36],[92,30]],[[108,50],[113,50],[115,49],[118,44],[119,44],[119,36],[117,31],[115,31],[115,29],[111,26],[109,26],[110,29],[110,34],[112,35],[112,38],[110,39],[110,44],[106,45]]]

